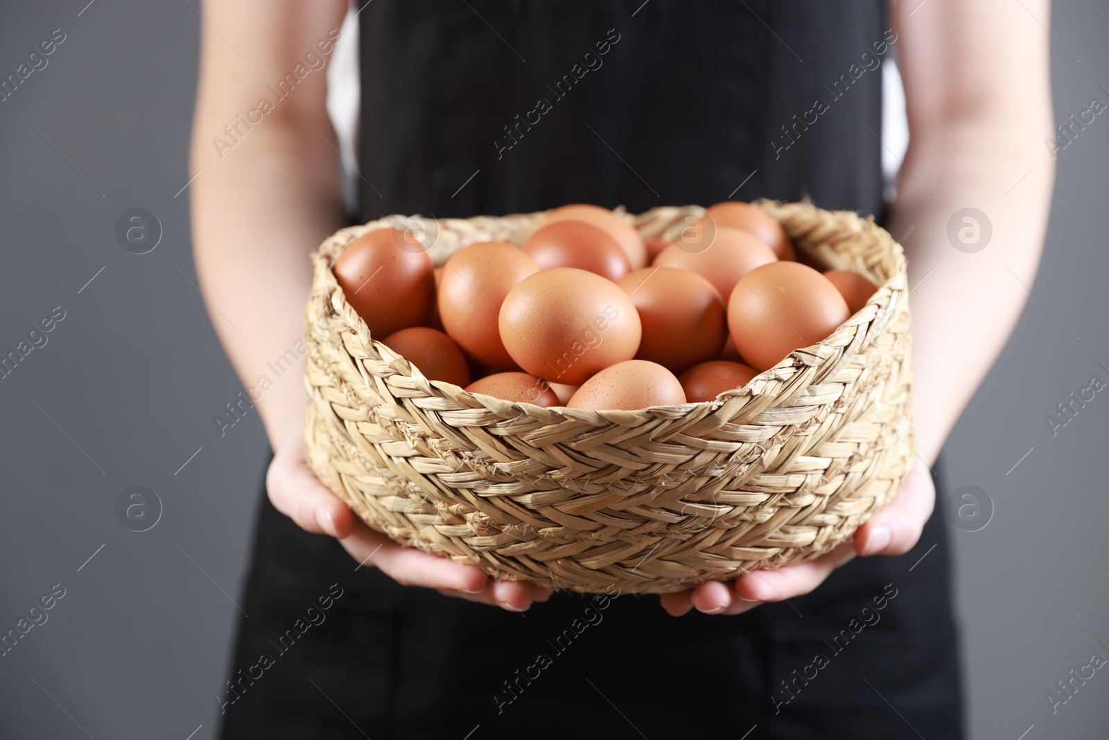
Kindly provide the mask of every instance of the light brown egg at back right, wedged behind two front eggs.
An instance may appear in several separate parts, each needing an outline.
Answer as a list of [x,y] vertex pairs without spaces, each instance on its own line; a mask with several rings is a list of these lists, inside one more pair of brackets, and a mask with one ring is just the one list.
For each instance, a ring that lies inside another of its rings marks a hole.
[[[654,265],[695,272],[712,283],[724,301],[740,277],[777,260],[762,240],[741,229],[705,227],[690,231],[690,234],[689,239],[663,250]],[[711,243],[704,245],[705,240]]]

